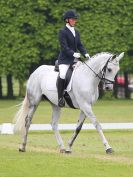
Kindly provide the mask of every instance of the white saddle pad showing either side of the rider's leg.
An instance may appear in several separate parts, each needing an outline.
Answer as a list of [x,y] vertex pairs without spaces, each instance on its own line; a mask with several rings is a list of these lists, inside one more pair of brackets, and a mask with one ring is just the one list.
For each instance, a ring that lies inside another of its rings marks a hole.
[[[77,62],[77,64],[75,65],[74,71],[72,73],[72,77],[71,80],[66,88],[66,91],[69,92],[71,90],[71,86],[72,86],[72,80],[73,80],[73,76],[74,73],[76,71],[76,68],[81,64],[82,62]],[[57,87],[56,87],[56,81],[57,81],[57,77],[58,77],[58,72],[50,72],[50,74],[47,76],[47,80],[46,80],[46,89],[49,91],[57,91]]]

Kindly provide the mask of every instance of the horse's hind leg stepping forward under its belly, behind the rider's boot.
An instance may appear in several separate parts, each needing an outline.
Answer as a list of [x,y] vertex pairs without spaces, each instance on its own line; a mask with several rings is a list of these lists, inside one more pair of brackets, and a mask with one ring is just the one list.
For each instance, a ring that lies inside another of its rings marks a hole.
[[59,121],[59,117],[60,117],[60,107],[58,107],[56,105],[52,105],[52,108],[53,108],[53,113],[52,113],[51,126],[52,126],[54,133],[55,133],[57,143],[60,146],[60,152],[65,152],[64,143],[63,143],[62,137],[61,137],[59,129],[58,129],[58,121]]

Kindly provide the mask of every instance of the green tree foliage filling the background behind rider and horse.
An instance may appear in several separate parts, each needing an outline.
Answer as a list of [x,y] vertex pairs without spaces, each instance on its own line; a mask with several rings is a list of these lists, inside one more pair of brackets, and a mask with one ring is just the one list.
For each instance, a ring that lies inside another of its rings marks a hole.
[[1,0],[0,73],[24,80],[32,64],[56,59],[69,9],[80,14],[77,28],[90,55],[124,51],[123,69],[132,69],[132,7],[132,0]]

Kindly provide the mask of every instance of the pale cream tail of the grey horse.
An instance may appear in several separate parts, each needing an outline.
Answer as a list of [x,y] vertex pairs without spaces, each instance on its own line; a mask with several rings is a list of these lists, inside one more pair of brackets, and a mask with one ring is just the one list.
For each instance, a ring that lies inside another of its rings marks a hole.
[[22,105],[14,117],[14,122],[15,122],[14,133],[20,133],[22,135],[25,134],[26,132],[25,119],[27,117],[28,110],[29,110],[29,101],[26,93]]

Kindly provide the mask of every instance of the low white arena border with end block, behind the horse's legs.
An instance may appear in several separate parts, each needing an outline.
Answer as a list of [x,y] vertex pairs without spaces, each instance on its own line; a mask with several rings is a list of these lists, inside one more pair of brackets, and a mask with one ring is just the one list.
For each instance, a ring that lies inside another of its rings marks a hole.
[[[133,123],[101,123],[104,130],[133,129]],[[0,125],[1,134],[13,134],[14,124],[3,123]],[[76,124],[59,124],[59,130],[75,130]],[[31,124],[30,131],[52,130],[50,124]],[[84,124],[82,130],[95,130],[92,124]]]

